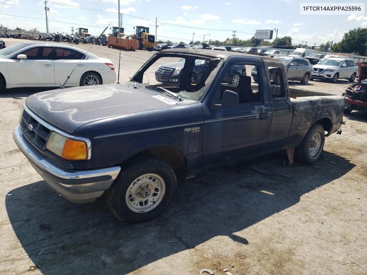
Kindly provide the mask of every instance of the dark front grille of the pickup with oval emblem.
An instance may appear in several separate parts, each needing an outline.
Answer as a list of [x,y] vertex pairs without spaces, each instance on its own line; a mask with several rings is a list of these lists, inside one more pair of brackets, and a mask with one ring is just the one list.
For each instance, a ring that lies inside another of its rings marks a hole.
[[25,110],[22,114],[21,128],[31,142],[41,150],[46,150],[47,139],[51,133],[50,129],[40,124]]

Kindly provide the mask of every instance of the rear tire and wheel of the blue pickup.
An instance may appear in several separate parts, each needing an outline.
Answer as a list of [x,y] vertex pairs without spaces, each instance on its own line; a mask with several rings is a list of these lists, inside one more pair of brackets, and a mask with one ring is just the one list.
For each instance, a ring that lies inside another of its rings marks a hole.
[[[316,139],[318,139],[318,142]],[[324,144],[324,128],[320,124],[315,123],[308,130],[301,144],[295,148],[296,157],[305,164],[313,164],[319,159],[324,149]]]

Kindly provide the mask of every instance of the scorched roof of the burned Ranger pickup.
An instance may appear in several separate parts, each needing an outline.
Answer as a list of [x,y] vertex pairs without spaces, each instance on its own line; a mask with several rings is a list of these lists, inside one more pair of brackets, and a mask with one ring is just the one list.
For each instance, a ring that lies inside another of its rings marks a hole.
[[172,53],[182,53],[182,54],[189,54],[189,55],[201,55],[201,56],[207,56],[211,58],[223,58],[226,60],[227,58],[231,56],[247,56],[247,57],[257,57],[261,59],[268,59],[272,61],[277,61],[274,58],[261,56],[261,55],[254,55],[254,54],[243,54],[241,52],[232,52],[232,51],[217,51],[212,49],[165,49],[161,52],[172,52]]

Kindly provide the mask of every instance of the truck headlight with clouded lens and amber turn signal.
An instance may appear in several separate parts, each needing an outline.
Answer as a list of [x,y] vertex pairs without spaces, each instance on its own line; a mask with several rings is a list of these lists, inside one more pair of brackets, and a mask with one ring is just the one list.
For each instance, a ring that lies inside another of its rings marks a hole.
[[86,160],[88,158],[86,142],[69,139],[57,132],[51,133],[46,149],[68,160]]

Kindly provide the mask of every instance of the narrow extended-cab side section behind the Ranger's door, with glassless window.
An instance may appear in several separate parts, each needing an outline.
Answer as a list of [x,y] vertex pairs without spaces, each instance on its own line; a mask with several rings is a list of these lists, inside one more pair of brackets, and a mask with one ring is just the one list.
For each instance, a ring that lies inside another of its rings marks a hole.
[[269,61],[267,63],[265,66],[272,67],[272,70],[274,70],[274,67],[277,67],[280,76],[280,85],[276,85],[273,81],[270,81],[269,77],[268,85],[271,89],[269,100],[272,107],[272,125],[270,127],[268,143],[264,150],[265,152],[284,147],[288,139],[293,117],[293,108],[289,98],[286,74],[279,65]]

